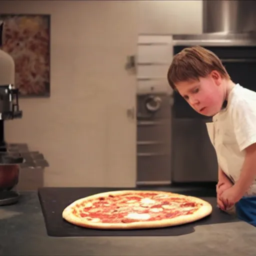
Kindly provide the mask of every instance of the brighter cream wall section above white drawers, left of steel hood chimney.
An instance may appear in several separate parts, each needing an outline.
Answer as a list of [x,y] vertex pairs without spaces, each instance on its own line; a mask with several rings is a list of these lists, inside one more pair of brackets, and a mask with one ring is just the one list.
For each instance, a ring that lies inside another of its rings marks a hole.
[[202,31],[201,0],[139,1],[139,32],[192,34]]

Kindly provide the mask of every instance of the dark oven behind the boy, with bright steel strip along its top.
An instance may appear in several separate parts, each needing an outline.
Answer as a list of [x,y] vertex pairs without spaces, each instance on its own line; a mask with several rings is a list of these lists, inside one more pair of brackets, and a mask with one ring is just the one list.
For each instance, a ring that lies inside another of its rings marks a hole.
[[[184,47],[201,45],[213,51],[231,79],[256,91],[256,39],[253,34],[173,35],[173,55]],[[211,118],[195,112],[173,92],[171,108],[171,181],[217,181],[217,160],[209,141],[205,122]]]

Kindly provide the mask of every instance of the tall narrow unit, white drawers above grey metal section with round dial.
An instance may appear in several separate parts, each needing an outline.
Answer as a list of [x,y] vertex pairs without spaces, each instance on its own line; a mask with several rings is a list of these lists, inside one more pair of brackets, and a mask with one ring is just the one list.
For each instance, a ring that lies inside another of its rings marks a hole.
[[170,184],[171,88],[166,73],[170,35],[139,34],[137,76],[137,185]]

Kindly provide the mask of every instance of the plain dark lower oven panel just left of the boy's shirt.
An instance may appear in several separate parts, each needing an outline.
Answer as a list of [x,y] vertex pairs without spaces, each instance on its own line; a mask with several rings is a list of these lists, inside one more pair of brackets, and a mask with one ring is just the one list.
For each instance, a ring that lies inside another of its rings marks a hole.
[[205,120],[174,118],[171,140],[172,181],[217,181],[217,158]]

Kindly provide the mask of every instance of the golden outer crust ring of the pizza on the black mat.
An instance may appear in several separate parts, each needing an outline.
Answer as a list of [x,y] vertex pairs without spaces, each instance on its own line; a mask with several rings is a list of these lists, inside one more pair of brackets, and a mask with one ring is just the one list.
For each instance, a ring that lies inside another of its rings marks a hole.
[[[126,193],[151,193],[157,192],[159,194],[166,194],[166,196],[185,198],[187,201],[192,201],[195,203],[201,203],[202,206],[199,207],[198,210],[189,215],[180,215],[176,217],[172,217],[169,219],[162,220],[150,220],[150,221],[136,221],[130,223],[102,223],[98,222],[95,219],[87,220],[86,218],[77,217],[72,213],[75,205],[79,203],[84,203],[87,200],[96,199],[98,197],[108,197],[108,195],[125,195]],[[178,193],[166,192],[166,191],[156,191],[156,190],[118,190],[118,191],[108,191],[101,192],[97,194],[93,194],[84,198],[80,198],[66,206],[62,212],[62,217],[75,225],[88,227],[88,228],[97,228],[97,229],[140,229],[140,228],[158,228],[158,227],[167,227],[174,225],[181,225],[189,222],[193,222],[199,220],[203,217],[206,217],[212,212],[212,206],[207,201],[204,201],[200,198],[194,196],[187,196]]]

